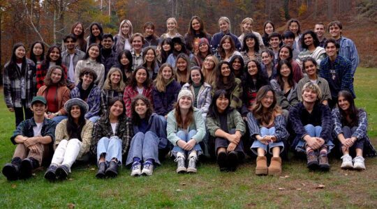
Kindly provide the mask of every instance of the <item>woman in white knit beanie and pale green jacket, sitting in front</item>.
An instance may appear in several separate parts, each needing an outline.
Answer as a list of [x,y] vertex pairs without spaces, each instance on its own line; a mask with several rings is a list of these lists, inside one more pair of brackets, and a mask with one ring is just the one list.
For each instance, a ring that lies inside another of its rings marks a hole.
[[172,155],[177,162],[177,173],[196,173],[196,162],[202,153],[199,142],[205,137],[205,122],[201,111],[193,107],[191,91],[184,89],[179,92],[175,108],[167,119],[166,131],[174,146]]

